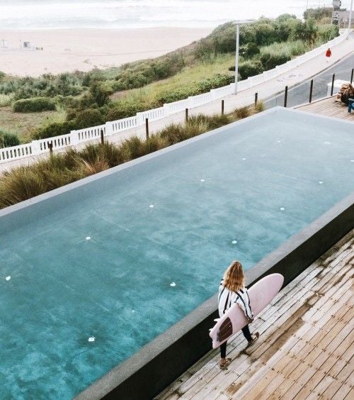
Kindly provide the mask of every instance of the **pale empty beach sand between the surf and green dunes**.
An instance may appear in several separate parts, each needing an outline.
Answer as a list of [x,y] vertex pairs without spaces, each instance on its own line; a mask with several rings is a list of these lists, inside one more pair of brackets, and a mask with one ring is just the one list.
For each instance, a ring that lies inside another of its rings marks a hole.
[[[90,71],[157,57],[205,37],[212,28],[0,30],[0,71],[38,77]],[[8,47],[4,48],[4,44]],[[32,48],[21,48],[30,42]]]

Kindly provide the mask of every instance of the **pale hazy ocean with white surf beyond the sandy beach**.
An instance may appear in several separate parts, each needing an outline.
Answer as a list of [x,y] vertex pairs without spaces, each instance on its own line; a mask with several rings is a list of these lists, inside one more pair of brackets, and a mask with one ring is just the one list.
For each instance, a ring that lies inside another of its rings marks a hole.
[[[348,4],[347,4],[348,3]],[[273,18],[309,7],[315,0],[0,0],[0,29],[209,28],[235,19]],[[342,1],[350,6],[350,0]]]

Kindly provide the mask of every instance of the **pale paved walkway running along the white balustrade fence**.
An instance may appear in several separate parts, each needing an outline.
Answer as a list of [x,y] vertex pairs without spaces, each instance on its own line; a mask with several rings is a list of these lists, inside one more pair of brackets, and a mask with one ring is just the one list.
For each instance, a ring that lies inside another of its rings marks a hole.
[[[275,94],[279,94],[280,92],[284,91],[285,86],[288,86],[289,88],[294,87],[295,85],[304,82],[311,77],[314,77],[319,72],[326,70],[326,68],[336,64],[336,62],[342,60],[344,57],[353,54],[354,34],[352,33],[347,40],[344,40],[342,43],[333,46],[331,50],[332,57],[329,63],[326,61],[326,57],[324,54],[319,55],[317,57],[314,57],[312,60],[304,62],[302,65],[299,65],[299,67],[296,67],[295,69],[280,75],[279,77],[270,79],[268,82],[258,84],[251,89],[240,91],[239,94],[237,94],[236,96],[226,96],[224,98],[225,113],[232,112],[236,107],[253,104],[255,93],[258,93],[259,100],[268,99],[270,96],[274,96]],[[198,113],[221,113],[221,99],[217,101],[212,101],[208,104],[205,104],[204,106],[196,107],[195,109],[191,109],[189,111],[189,115],[195,115]],[[173,114],[166,118],[161,118],[157,121],[152,121],[149,123],[149,131],[150,133],[154,133],[158,130],[161,130],[165,126],[170,125],[171,123],[183,122],[184,118],[185,113],[181,112]],[[110,142],[112,143],[120,143],[120,141],[125,138],[129,138],[132,135],[144,137],[145,126],[139,126],[137,128],[132,128],[130,130],[125,130],[124,132],[117,133],[116,135],[110,136],[108,140],[110,140]],[[86,144],[87,143],[85,143],[85,145]],[[44,155],[44,157],[47,157],[47,155]],[[33,162],[34,159],[38,159],[38,157],[28,157],[23,160],[15,160],[0,164],[0,172],[4,170],[9,170],[12,167],[16,167],[18,165],[28,165],[30,164],[30,162]]]

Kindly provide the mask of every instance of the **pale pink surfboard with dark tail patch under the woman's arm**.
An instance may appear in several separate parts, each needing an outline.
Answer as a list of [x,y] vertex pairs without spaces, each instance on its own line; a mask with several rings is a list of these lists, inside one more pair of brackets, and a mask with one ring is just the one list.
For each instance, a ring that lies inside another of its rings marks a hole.
[[[253,284],[249,289],[249,301],[255,317],[274,299],[283,282],[284,277],[281,274],[270,274]],[[215,349],[249,323],[238,304],[233,304],[222,318],[215,321],[217,323],[209,333],[212,348]]]

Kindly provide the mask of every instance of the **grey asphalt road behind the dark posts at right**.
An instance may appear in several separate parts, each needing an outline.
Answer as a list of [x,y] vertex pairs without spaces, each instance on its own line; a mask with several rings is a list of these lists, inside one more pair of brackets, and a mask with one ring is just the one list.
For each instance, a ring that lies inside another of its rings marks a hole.
[[[328,69],[320,72],[314,77],[314,87],[312,91],[312,100],[320,99],[327,94],[327,84],[332,82],[332,75],[336,74],[335,79],[341,79],[350,82],[350,75],[354,68],[354,54],[349,55],[343,60],[336,62]],[[309,101],[311,79],[298,84],[287,92],[287,106],[297,106]],[[270,109],[274,106],[284,105],[284,93],[278,94],[264,101],[265,109]]]

